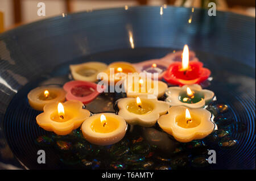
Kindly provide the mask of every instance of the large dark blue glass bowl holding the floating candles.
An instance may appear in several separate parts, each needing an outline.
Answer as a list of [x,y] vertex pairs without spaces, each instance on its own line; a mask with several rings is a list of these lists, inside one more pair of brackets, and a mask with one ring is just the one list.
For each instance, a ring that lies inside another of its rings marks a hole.
[[[188,23],[191,17],[192,22]],[[63,138],[36,125],[35,116],[40,112],[28,106],[27,93],[52,78],[54,83],[62,85],[68,80],[69,64],[86,61],[107,64],[113,61],[140,62],[163,57],[173,50],[182,49],[184,44],[188,44],[205,67],[212,71],[213,81],[207,89],[216,93],[218,103],[229,107],[228,112],[217,117],[228,121],[220,124],[224,132],[216,134],[223,136],[227,131],[225,139],[232,137],[237,145],[223,149],[223,142],[214,141],[212,135],[213,142],[207,138],[181,145],[187,149],[181,162],[177,159],[182,154],[164,158],[166,153],[162,154],[158,148],[154,150],[154,145],[149,145],[155,155],[148,158],[149,153],[139,153],[131,145],[126,162],[112,162],[94,154],[83,158],[82,163],[90,163],[89,169],[182,169],[180,163],[186,163],[185,168],[204,169],[197,164],[203,156],[193,155],[196,151],[191,149],[210,142],[207,149],[216,150],[217,163],[208,165],[207,169],[255,169],[255,19],[219,11],[217,16],[208,16],[207,10],[195,9],[192,12],[182,7],[167,7],[160,14],[160,7],[146,6],[61,15],[0,35],[0,162],[28,169],[80,168],[76,159],[68,156],[70,153],[60,150],[63,157],[56,159],[59,152],[36,143],[35,140],[40,141],[40,136],[46,134],[49,144],[57,140],[57,146],[61,147]],[[228,124],[230,119],[232,123]],[[142,139],[143,135],[144,140],[151,133],[160,132],[162,135],[157,125],[152,129],[134,129],[141,135],[130,136],[129,133],[129,144],[138,142],[136,140]],[[165,133],[162,137],[170,138]],[[68,146],[68,138],[65,139]],[[147,150],[147,145],[145,142],[139,146]],[[172,140],[171,145],[176,146],[177,142]],[[109,153],[114,149],[112,146],[95,150]],[[123,145],[116,146],[121,148]],[[91,149],[93,145],[89,147]],[[46,150],[46,164],[37,163],[39,149]],[[64,160],[65,157],[70,159]],[[143,163],[138,163],[142,161],[141,157],[150,160],[143,159]],[[129,165],[129,161],[134,162]],[[123,163],[122,167],[119,162]],[[154,163],[152,167],[145,167],[151,163]]]

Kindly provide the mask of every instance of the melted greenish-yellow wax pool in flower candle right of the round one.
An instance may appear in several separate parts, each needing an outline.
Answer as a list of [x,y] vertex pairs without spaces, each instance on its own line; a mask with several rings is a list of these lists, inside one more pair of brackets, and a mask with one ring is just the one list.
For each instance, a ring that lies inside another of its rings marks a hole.
[[136,113],[137,115],[144,115],[154,110],[154,107],[152,106],[152,104],[147,102],[142,102],[141,107],[139,107],[137,102],[135,101],[127,104],[126,109],[129,112]]

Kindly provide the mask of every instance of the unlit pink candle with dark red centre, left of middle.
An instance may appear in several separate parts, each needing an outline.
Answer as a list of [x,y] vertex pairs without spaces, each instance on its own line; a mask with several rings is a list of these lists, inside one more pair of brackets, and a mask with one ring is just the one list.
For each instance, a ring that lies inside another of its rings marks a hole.
[[67,92],[67,100],[80,100],[83,104],[90,103],[100,92],[97,84],[85,81],[70,81],[65,83],[63,89]]

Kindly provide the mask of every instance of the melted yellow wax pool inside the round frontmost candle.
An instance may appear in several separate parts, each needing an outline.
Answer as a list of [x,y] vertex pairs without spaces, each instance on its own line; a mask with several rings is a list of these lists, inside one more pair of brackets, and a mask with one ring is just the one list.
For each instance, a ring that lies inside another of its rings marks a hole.
[[98,118],[92,122],[91,127],[97,133],[110,133],[119,127],[119,120],[111,117],[111,119],[101,122],[100,118]]

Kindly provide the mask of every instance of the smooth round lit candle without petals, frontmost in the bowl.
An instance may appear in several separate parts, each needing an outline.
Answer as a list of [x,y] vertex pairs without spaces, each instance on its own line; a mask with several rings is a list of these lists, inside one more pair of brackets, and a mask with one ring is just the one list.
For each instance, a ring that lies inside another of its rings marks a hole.
[[85,139],[95,145],[112,145],[125,136],[127,124],[114,113],[99,113],[86,119],[81,126]]

